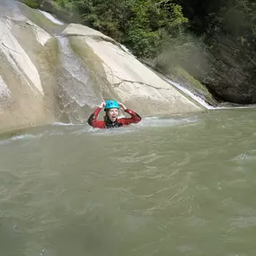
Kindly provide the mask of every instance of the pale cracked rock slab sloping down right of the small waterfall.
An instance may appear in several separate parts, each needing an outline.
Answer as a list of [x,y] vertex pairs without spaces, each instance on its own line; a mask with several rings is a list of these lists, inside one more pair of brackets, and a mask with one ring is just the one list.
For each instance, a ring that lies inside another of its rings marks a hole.
[[[78,55],[89,50],[86,45],[93,50],[102,61],[110,90],[130,108],[154,115],[201,110],[101,32],[70,24],[62,34],[76,46]],[[93,62],[93,58],[87,61]]]

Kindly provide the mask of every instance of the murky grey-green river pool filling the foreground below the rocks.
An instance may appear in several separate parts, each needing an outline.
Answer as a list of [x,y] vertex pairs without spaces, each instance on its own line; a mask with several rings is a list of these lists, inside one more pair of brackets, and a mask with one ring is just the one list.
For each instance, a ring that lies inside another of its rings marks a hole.
[[0,255],[255,255],[255,126],[216,110],[2,137]]

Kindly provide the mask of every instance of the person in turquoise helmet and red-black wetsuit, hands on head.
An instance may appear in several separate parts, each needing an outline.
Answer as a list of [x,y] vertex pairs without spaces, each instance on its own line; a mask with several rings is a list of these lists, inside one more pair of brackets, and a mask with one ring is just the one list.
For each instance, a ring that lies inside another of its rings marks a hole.
[[[97,120],[98,115],[103,108],[106,112],[104,120]],[[119,119],[118,114],[120,108],[127,112],[131,117]],[[129,110],[124,104],[116,101],[107,101],[102,102],[102,104],[94,110],[87,122],[93,128],[119,128],[128,126],[132,123],[138,123],[140,120],[141,117],[133,110]]]

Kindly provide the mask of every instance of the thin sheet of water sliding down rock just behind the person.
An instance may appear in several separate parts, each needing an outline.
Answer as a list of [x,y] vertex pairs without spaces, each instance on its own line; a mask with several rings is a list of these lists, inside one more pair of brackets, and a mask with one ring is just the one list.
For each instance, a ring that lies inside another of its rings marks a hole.
[[57,37],[57,41],[61,62],[57,74],[61,108],[71,122],[83,122],[87,119],[84,116],[86,107],[95,108],[103,102],[102,90],[99,88],[100,92],[96,92],[90,77],[91,71],[70,48],[68,38]]

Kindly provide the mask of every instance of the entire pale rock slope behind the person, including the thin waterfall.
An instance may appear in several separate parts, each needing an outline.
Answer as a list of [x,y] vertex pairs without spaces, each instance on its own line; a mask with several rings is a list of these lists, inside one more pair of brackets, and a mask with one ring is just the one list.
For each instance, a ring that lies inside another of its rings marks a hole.
[[1,132],[81,123],[110,98],[142,115],[204,110],[98,31],[78,24],[56,30],[42,13],[10,0],[1,1],[0,13]]

